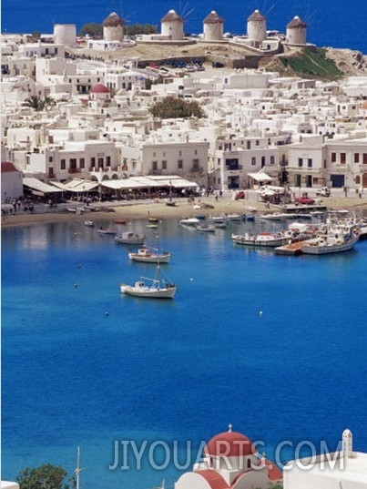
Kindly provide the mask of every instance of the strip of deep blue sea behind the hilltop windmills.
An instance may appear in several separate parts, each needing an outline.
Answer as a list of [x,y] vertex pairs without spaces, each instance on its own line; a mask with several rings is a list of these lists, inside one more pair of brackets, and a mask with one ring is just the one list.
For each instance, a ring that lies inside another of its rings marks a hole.
[[53,25],[76,24],[79,30],[90,22],[101,24],[111,12],[121,15],[126,25],[158,25],[169,9],[174,9],[185,20],[185,32],[199,34],[202,21],[211,10],[216,10],[224,20],[225,32],[245,34],[247,19],[255,9],[267,18],[269,30],[285,32],[286,25],[295,15],[307,23],[307,40],[317,46],[351,48],[367,54],[365,18],[367,5],[364,0],[309,0],[300,2],[280,0],[261,2],[250,0],[239,3],[237,0],[136,0],[132,4],[123,0],[2,0],[2,32],[8,33],[52,33]]

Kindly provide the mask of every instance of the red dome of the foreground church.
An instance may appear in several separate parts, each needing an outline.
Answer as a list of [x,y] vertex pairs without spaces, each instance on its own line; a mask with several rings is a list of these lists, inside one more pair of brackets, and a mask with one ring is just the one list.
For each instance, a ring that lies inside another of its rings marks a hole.
[[244,434],[232,432],[219,433],[207,443],[204,452],[214,456],[246,457],[257,453],[250,438]]

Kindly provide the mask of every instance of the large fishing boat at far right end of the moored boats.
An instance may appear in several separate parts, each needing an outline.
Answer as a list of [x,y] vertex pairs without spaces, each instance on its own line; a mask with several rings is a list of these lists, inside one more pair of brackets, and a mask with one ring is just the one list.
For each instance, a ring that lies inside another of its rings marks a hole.
[[301,250],[306,255],[340,253],[341,251],[352,250],[360,236],[361,229],[356,224],[349,227],[334,226],[316,238],[305,241]]

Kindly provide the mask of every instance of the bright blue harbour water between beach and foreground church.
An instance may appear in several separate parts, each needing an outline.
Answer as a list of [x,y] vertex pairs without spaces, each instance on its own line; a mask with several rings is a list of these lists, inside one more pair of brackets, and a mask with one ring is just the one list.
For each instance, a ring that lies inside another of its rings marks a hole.
[[83,219],[2,230],[2,478],[72,474],[79,446],[81,489],[171,488],[229,423],[270,459],[289,442],[281,462],[303,441],[335,450],[345,428],[367,452],[367,241],[284,257],[230,239],[273,223],[147,224],[121,229],[172,253],[173,301],[122,296],[155,266]]

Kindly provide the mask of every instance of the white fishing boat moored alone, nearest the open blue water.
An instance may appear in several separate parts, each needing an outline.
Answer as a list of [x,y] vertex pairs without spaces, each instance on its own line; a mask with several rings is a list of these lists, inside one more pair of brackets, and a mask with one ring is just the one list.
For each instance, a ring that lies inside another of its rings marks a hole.
[[140,277],[134,285],[120,283],[121,293],[132,295],[134,297],[143,297],[147,299],[173,299],[177,286],[173,283],[166,283],[159,277],[159,266],[154,279]]

